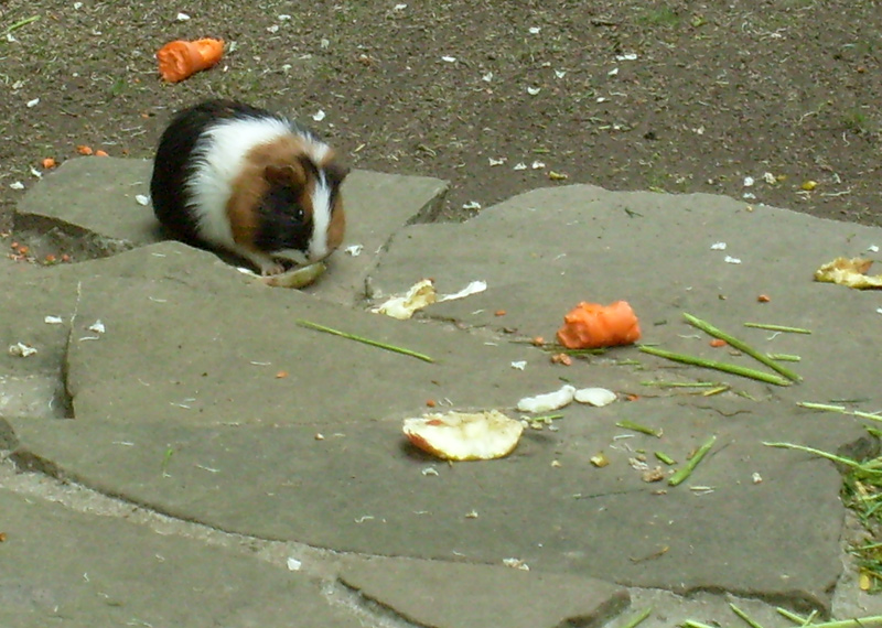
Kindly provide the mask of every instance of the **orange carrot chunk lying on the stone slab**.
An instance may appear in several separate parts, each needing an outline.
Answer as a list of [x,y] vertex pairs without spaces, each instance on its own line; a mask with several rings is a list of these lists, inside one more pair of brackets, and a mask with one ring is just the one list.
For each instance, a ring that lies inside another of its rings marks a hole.
[[639,338],[637,316],[626,301],[610,305],[582,302],[563,317],[558,329],[558,342],[568,349],[630,345]]

